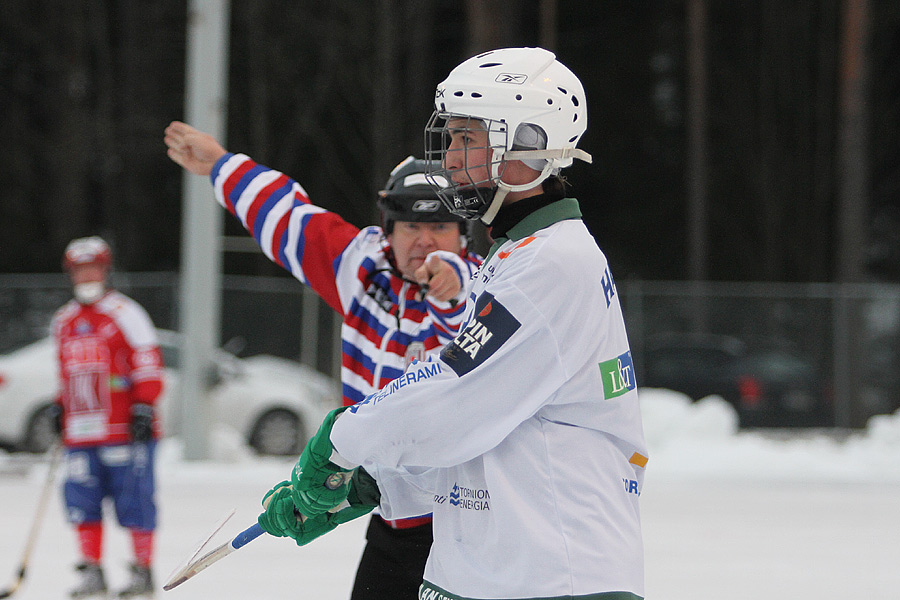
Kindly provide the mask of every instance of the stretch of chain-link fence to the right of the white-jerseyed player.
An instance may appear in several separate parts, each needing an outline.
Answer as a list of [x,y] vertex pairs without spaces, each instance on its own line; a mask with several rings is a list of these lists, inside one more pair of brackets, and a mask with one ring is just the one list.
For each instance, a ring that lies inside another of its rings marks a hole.
[[[680,348],[683,357],[700,339],[707,348],[739,345],[755,358],[745,364],[752,362],[763,379],[793,377],[793,401],[805,386],[816,412],[798,424],[858,428],[900,407],[898,285],[625,281],[617,287],[639,385],[659,375],[651,371],[664,360],[661,346]],[[725,367],[708,364],[698,377],[715,378],[717,369]],[[753,398],[751,380],[735,385],[748,388],[735,394]],[[791,424],[778,419],[772,409],[759,422]]]

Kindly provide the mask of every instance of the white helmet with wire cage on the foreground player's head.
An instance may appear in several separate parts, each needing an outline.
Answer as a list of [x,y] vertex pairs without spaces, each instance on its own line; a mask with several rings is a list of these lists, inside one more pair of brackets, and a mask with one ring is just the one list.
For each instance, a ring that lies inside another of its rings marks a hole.
[[[438,165],[445,165],[450,119],[467,119],[467,126],[488,132],[490,178],[435,186],[447,208],[467,219],[490,224],[508,192],[535,187],[573,158],[591,161],[576,148],[587,128],[584,88],[548,50],[504,48],[474,56],[438,84],[434,106],[425,129],[425,155]],[[508,160],[521,160],[540,174],[527,184],[505,184],[501,177]],[[453,174],[441,167],[429,172],[429,179],[452,182]]]

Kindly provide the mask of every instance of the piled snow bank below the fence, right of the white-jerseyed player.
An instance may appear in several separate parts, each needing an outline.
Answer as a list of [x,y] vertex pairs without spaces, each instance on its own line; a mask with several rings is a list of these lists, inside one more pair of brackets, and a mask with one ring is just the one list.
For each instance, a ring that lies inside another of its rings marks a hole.
[[647,476],[688,480],[900,483],[900,411],[860,432],[739,431],[733,407],[641,390]]

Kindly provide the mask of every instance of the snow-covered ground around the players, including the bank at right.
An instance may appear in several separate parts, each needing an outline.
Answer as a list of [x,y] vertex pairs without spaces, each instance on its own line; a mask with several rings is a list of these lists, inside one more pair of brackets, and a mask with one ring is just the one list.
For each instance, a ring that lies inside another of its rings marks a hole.
[[[735,416],[710,398],[691,405],[644,390],[650,463],[641,498],[647,598],[653,600],[889,599],[900,597],[900,415],[860,434],[737,433]],[[250,457],[217,432],[215,460],[180,460],[177,441],[160,453],[157,585],[232,508],[213,542],[252,524],[265,491],[291,460]],[[0,454],[0,587],[11,582],[46,467]],[[345,600],[366,520],[304,548],[263,536],[157,598]],[[125,579],[128,541],[108,528],[107,577]],[[16,598],[68,597],[74,536],[54,494]]]

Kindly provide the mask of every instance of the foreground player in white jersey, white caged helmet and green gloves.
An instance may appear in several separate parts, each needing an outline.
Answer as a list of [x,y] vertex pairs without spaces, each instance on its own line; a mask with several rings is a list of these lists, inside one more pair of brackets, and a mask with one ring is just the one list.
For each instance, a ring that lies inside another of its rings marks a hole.
[[546,50],[495,50],[456,67],[435,109],[426,152],[453,182],[438,193],[495,240],[465,325],[329,415],[260,523],[304,544],[366,505],[430,510],[424,600],[642,598],[631,352],[606,257],[558,176],[590,160],[581,82]]

